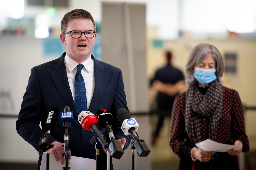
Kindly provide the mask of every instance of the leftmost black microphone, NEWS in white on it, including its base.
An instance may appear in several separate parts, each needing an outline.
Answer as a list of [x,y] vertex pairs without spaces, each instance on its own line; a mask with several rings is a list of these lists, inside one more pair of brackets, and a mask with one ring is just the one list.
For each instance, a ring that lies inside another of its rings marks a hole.
[[53,145],[51,145],[50,134],[51,134],[51,131],[54,130],[54,125],[56,124],[58,112],[59,110],[56,107],[51,107],[50,111],[48,112],[45,126],[43,128],[43,132],[45,133],[45,135],[39,141],[39,147],[42,150],[48,150],[53,147]]

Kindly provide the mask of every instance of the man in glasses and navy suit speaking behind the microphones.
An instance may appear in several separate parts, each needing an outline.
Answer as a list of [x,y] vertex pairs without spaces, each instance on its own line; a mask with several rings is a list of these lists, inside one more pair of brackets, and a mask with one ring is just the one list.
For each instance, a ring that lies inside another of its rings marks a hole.
[[[53,106],[63,111],[69,106],[74,114],[74,127],[69,132],[69,153],[71,156],[79,156],[95,159],[95,145],[90,140],[93,137],[91,131],[81,127],[78,122],[78,114],[75,103],[75,75],[77,65],[83,64],[81,74],[86,87],[88,111],[96,114],[98,109],[108,109],[113,115],[112,129],[116,140],[125,150],[131,137],[125,136],[121,130],[116,111],[120,108],[128,110],[124,83],[121,70],[98,61],[91,55],[97,34],[96,25],[91,14],[86,10],[75,9],[64,15],[61,20],[62,43],[66,46],[66,52],[56,60],[49,61],[31,69],[28,86],[23,96],[23,102],[16,122],[17,132],[39,152],[38,169],[42,159],[42,150],[39,148],[39,140],[44,136],[43,128],[49,109]],[[42,129],[39,127],[41,123]],[[104,136],[107,136],[105,128],[100,128]],[[64,132],[58,114],[54,131],[51,132],[53,148],[49,151],[56,161],[64,164],[65,153]],[[99,168],[107,169],[107,151],[102,147],[99,150]],[[111,163],[111,169],[113,169]]]

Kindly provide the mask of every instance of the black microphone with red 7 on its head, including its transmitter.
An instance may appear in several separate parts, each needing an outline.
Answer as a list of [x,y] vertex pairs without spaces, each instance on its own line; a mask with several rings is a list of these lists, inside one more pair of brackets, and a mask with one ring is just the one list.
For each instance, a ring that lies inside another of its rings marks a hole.
[[113,116],[108,109],[99,109],[96,114],[99,127],[106,128],[108,137],[110,139],[109,148],[113,158],[120,159],[124,154],[121,143],[115,139],[114,133],[111,129]]

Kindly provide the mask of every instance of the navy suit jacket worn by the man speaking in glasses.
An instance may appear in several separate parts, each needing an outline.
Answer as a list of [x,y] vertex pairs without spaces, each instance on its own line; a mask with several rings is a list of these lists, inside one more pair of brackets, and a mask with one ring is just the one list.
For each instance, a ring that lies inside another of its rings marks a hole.
[[[71,156],[96,159],[95,145],[90,143],[93,133],[81,127],[78,122],[78,112],[69,88],[64,57],[66,53],[53,61],[41,64],[31,69],[28,86],[23,96],[20,113],[16,122],[17,132],[28,143],[39,152],[39,164],[41,162],[42,150],[39,148],[39,140],[44,136],[46,117],[49,109],[53,106],[59,109],[54,131],[51,132],[53,141],[64,142],[64,132],[60,123],[60,112],[65,106],[69,106],[73,111],[74,127],[69,132],[69,149]],[[121,123],[117,119],[116,111],[124,108],[128,111],[126,96],[124,92],[124,82],[121,70],[110,64],[94,60],[95,88],[89,106],[89,111],[96,114],[98,109],[108,109],[113,115],[112,129],[116,140],[126,138],[124,149],[129,146],[130,136],[125,136],[121,130]],[[42,129],[39,124],[42,124]],[[100,128],[105,137],[105,128]],[[102,147],[100,149],[100,169],[107,169],[107,154]],[[72,168],[72,167],[71,167]],[[112,169],[113,167],[111,167]]]

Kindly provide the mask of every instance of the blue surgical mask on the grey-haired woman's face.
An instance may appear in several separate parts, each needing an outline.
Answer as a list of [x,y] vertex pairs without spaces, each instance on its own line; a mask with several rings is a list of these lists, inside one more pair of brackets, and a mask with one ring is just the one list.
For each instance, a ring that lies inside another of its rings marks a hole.
[[216,69],[200,69],[195,67],[194,77],[203,85],[206,85],[217,79],[215,75]]

